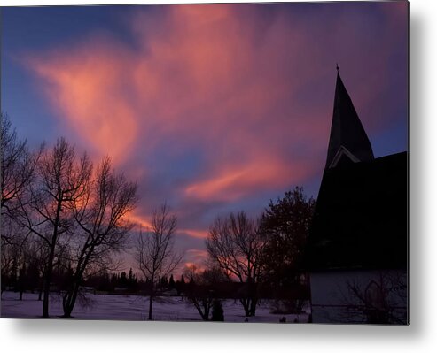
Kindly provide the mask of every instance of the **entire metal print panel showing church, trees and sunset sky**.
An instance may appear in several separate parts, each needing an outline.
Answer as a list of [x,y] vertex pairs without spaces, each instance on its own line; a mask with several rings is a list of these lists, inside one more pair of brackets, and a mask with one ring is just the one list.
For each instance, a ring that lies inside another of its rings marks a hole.
[[407,2],[1,11],[2,318],[408,324]]

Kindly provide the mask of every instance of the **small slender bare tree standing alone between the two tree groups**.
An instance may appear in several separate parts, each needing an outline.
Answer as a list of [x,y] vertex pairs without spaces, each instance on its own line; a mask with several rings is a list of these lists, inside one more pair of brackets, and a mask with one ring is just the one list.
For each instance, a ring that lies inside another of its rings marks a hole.
[[135,246],[138,268],[149,281],[149,320],[152,320],[153,298],[162,277],[168,277],[182,260],[174,249],[177,219],[167,204],[152,213],[152,226],[140,232]]

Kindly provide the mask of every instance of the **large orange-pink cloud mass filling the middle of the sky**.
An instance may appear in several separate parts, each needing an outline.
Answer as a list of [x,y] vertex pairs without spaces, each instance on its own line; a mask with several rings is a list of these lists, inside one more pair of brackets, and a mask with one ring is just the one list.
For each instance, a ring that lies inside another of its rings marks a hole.
[[29,61],[60,119],[94,155],[120,164],[163,141],[211,152],[209,173],[184,191],[200,199],[233,201],[302,180],[306,164],[287,160],[275,141],[317,131],[293,106],[275,112],[296,90],[284,68],[302,42],[283,16],[260,34],[253,13],[233,5],[179,5],[160,23],[140,13],[132,27],[137,50],[95,35]]

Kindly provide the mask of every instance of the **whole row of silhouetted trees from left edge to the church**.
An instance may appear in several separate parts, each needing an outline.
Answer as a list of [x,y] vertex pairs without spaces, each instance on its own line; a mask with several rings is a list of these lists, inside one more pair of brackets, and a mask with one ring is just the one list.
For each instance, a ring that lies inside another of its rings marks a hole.
[[[147,295],[149,319],[164,289],[183,295],[204,320],[222,318],[224,298],[241,303],[246,317],[262,298],[275,299],[278,312],[299,311],[308,299],[301,261],[315,202],[302,188],[270,201],[257,219],[245,211],[217,217],[205,242],[207,262],[185,267],[174,280],[183,260],[175,249],[176,214],[161,205],[129,248],[137,185],[109,157],[94,164],[65,138],[30,150],[4,114],[1,143],[2,291],[13,287],[21,297],[38,288],[43,318],[54,287],[61,289],[65,318],[86,285]],[[115,255],[127,249],[142,279],[132,269],[117,274]]]

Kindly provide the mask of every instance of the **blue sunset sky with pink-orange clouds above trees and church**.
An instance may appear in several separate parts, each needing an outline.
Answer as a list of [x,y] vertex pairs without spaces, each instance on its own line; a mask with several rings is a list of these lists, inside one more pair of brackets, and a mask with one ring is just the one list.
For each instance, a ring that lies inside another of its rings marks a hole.
[[317,196],[337,63],[375,157],[408,148],[406,2],[2,8],[1,60],[20,137],[112,157],[184,264],[217,216]]

